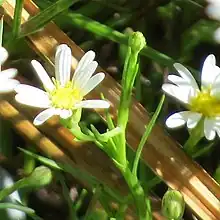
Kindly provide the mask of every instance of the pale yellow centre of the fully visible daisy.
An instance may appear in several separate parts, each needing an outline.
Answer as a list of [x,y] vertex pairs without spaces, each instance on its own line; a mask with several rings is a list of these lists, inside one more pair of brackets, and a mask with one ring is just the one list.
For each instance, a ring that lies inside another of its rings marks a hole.
[[74,105],[83,99],[80,91],[75,87],[73,88],[71,81],[67,82],[64,87],[55,79],[53,79],[53,82],[55,89],[48,93],[55,108],[74,109]]

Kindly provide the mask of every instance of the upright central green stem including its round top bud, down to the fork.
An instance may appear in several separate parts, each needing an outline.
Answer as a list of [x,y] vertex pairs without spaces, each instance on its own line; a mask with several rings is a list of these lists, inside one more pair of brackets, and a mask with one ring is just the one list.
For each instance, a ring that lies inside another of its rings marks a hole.
[[146,45],[146,41],[142,33],[134,32],[129,35],[128,49],[122,74],[122,93],[118,109],[117,126],[122,132],[119,135],[118,157],[116,160],[126,166],[126,126],[129,118],[129,108],[132,97],[132,89],[138,72],[138,55]]

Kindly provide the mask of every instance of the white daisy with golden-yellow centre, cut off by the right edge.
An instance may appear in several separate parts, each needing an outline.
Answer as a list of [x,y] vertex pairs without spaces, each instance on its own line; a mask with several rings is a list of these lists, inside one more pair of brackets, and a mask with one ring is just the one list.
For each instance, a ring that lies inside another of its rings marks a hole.
[[179,63],[174,67],[180,76],[169,75],[162,86],[163,91],[180,101],[188,111],[171,115],[166,120],[169,128],[178,128],[187,125],[194,128],[200,119],[204,119],[204,136],[213,140],[220,137],[220,68],[216,66],[214,55],[209,55],[203,64],[201,73],[201,89],[188,69]]

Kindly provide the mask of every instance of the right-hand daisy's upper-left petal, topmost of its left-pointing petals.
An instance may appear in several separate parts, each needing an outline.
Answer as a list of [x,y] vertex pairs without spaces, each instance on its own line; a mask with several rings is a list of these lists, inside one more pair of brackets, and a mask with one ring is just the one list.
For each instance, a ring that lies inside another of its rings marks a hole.
[[180,63],[174,63],[173,66],[176,68],[180,76],[183,79],[185,79],[186,82],[189,83],[189,85],[191,85],[194,89],[199,89],[196,80],[194,79],[194,77],[186,67],[184,67]]

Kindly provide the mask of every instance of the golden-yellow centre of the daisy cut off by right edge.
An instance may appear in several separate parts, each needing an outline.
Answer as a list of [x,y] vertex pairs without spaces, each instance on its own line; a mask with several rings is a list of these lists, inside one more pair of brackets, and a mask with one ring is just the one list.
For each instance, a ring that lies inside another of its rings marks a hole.
[[190,100],[190,110],[206,117],[220,116],[220,100],[211,96],[210,89],[201,91]]

